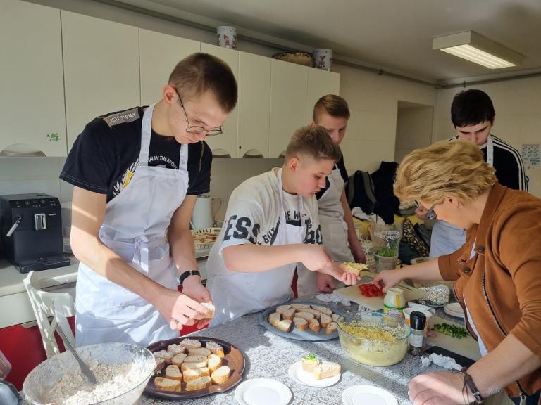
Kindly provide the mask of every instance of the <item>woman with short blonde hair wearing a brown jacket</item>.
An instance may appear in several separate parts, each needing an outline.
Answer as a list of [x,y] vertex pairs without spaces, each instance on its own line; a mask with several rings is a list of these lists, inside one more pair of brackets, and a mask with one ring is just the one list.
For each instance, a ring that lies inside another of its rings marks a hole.
[[482,355],[467,371],[413,378],[413,404],[480,403],[502,388],[515,404],[539,404],[541,200],[499,184],[479,148],[463,141],[414,150],[394,192],[420,202],[427,217],[467,229],[466,243],[450,255],[382,271],[374,282],[387,291],[404,278],[455,281]]

